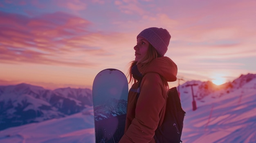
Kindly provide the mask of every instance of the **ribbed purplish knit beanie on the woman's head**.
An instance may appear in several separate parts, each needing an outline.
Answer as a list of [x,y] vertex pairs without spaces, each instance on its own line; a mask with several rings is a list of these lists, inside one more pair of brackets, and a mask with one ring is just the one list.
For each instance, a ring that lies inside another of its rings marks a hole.
[[143,37],[146,39],[159,53],[162,57],[167,51],[167,47],[169,45],[171,35],[166,29],[150,27],[148,29],[144,29],[139,33],[138,37]]

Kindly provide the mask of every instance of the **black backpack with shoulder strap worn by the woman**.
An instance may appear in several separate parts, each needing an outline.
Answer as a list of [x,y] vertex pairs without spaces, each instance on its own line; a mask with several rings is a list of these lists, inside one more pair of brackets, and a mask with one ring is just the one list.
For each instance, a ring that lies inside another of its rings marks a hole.
[[[140,93],[140,82],[137,99]],[[163,124],[155,130],[156,143],[182,143],[180,140],[183,129],[183,120],[186,112],[182,109],[177,88],[173,87],[167,92],[166,111]]]

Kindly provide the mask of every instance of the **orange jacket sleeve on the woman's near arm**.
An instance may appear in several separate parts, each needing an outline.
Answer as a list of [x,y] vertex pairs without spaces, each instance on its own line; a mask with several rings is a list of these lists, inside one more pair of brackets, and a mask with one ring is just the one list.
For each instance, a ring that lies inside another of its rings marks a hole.
[[165,104],[163,88],[157,73],[147,73],[143,77],[135,118],[119,143],[149,143],[153,140]]

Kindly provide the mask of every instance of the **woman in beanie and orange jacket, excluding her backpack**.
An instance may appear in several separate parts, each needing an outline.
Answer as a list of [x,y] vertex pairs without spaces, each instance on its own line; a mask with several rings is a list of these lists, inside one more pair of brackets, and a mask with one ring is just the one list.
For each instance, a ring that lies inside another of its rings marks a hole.
[[176,64],[164,57],[170,39],[166,29],[156,27],[137,36],[135,60],[129,69],[129,83],[135,84],[129,91],[125,133],[119,143],[155,143],[155,130],[162,125],[165,113],[167,81],[177,79]]

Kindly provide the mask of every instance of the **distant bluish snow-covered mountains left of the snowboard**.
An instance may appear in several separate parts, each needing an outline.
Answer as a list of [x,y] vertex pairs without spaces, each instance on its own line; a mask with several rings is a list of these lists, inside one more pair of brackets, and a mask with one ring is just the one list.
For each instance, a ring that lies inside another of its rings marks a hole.
[[0,130],[65,117],[92,106],[90,89],[0,86]]

